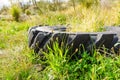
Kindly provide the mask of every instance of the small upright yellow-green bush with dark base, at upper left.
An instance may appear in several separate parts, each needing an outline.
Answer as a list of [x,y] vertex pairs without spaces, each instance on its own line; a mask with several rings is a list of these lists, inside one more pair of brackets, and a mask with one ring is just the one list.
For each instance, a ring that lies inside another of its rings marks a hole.
[[19,21],[20,14],[21,14],[21,8],[14,5],[10,9],[11,15],[15,21]]

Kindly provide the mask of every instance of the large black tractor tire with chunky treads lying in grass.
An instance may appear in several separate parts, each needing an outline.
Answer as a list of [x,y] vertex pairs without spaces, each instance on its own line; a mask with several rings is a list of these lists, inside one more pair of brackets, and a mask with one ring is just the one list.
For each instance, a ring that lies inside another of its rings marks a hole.
[[72,52],[76,49],[92,52],[104,47],[110,52],[112,49],[120,53],[120,27],[106,27],[105,32],[71,33],[66,32],[64,26],[35,26],[28,31],[28,41],[35,53],[39,53],[40,49],[47,50],[47,45],[52,48],[55,41],[62,47],[72,46]]

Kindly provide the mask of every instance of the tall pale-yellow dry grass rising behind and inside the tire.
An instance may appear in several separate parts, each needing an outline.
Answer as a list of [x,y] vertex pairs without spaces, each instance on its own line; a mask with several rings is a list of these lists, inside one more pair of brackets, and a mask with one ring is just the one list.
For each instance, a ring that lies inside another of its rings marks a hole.
[[98,6],[89,9],[78,6],[75,12],[73,9],[68,10],[68,12],[73,12],[73,14],[69,14],[68,23],[71,24],[74,32],[96,32],[102,31],[103,26],[120,25],[120,5],[111,8]]

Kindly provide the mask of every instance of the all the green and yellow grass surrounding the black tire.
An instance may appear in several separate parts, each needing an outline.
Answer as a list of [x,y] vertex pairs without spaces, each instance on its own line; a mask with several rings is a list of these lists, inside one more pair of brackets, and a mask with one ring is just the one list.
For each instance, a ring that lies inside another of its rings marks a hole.
[[[120,56],[83,52],[80,59],[71,60],[69,48],[44,52],[47,60],[28,48],[27,30],[38,24],[70,24],[73,32],[104,31],[103,26],[120,25],[119,4],[112,8],[82,5],[60,12],[30,16],[24,22],[0,20],[0,79],[1,80],[119,80]],[[73,54],[73,53],[71,53]],[[47,65],[43,70],[44,65]]]

